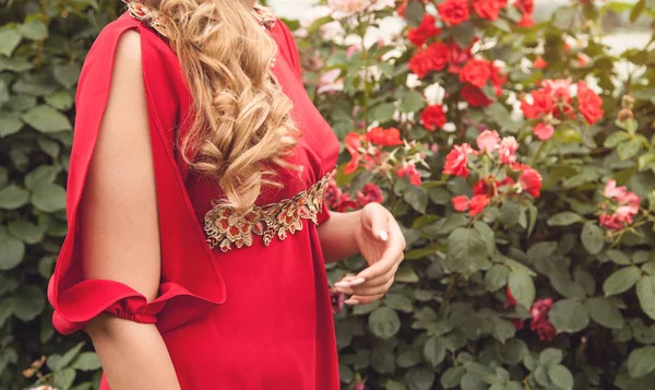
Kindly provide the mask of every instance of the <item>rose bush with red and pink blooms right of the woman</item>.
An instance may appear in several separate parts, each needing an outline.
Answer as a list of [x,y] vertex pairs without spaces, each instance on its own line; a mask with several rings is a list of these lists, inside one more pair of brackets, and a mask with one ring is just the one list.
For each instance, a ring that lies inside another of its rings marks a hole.
[[602,23],[653,11],[404,0],[302,21],[345,144],[329,196],[379,186],[409,243],[384,299],[334,296],[345,388],[653,387],[655,45],[612,55]]

